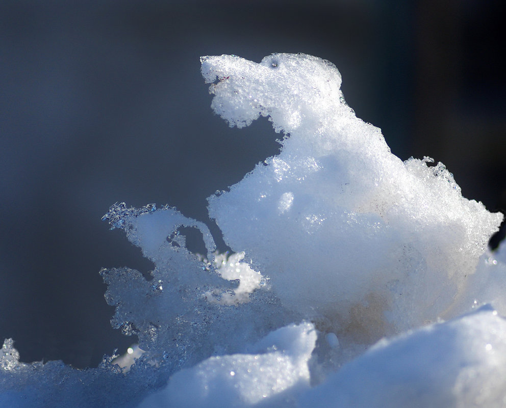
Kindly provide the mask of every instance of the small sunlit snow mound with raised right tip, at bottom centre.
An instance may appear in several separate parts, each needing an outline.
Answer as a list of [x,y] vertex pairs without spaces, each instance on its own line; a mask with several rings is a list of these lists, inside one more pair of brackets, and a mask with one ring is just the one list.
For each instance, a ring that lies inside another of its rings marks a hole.
[[315,347],[311,323],[278,329],[247,354],[211,357],[179,371],[168,386],[146,398],[139,408],[221,408],[223,406],[292,406],[309,389],[308,360]]

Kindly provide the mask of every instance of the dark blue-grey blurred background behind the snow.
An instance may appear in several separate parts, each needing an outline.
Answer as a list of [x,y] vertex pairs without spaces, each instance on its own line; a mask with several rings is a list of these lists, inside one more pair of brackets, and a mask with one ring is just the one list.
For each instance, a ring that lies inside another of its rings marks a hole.
[[100,217],[117,201],[208,223],[206,197],[279,151],[266,120],[214,116],[199,57],[305,52],[337,65],[357,115],[402,159],[506,207],[504,2],[0,2],[0,342],[96,366],[111,329],[101,267],[152,268]]

